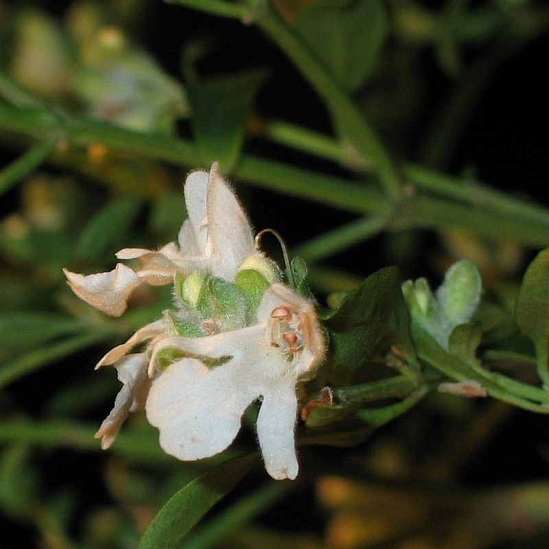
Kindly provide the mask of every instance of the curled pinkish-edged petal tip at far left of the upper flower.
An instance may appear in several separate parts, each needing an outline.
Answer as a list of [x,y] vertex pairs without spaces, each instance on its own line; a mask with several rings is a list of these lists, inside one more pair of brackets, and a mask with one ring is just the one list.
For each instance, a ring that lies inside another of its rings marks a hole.
[[86,303],[110,315],[120,316],[128,306],[130,294],[141,278],[124,264],[117,264],[109,272],[78,274],[63,269],[71,290]]

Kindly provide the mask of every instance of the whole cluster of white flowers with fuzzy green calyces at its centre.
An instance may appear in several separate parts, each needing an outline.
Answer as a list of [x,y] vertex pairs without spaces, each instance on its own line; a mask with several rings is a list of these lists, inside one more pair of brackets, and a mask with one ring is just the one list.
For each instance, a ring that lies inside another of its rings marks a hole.
[[128,414],[144,407],[165,452],[205,458],[233,442],[242,414],[260,399],[257,438],[268,474],[296,478],[296,384],[314,373],[325,351],[314,307],[277,282],[279,271],[256,249],[216,165],[189,175],[185,203],[189,219],[178,244],[117,253],[139,259],[139,269],[118,264],[86,277],[65,271],[75,294],[113,316],[143,281],[174,283],[175,309],[98,362],[115,366],[123,386],[95,436],[109,447]]

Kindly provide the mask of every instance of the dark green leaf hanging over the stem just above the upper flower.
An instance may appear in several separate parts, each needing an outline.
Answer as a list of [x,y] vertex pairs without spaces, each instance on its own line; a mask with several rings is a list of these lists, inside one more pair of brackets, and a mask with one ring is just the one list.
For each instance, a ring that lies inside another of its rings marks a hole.
[[240,158],[246,128],[265,70],[217,78],[189,78],[191,125],[198,152],[205,163],[218,161],[231,172]]

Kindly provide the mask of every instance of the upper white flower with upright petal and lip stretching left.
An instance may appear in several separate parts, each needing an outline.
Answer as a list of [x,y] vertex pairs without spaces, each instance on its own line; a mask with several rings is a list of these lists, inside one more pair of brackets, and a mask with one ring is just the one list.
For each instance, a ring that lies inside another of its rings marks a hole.
[[214,277],[233,281],[239,266],[257,253],[246,214],[213,164],[207,172],[193,172],[185,182],[189,219],[179,231],[178,244],[160,250],[124,248],[118,259],[139,259],[132,270],[117,264],[110,272],[84,276],[64,270],[71,290],[96,309],[120,316],[130,294],[145,281],[151,285],[173,283],[176,272],[206,270]]

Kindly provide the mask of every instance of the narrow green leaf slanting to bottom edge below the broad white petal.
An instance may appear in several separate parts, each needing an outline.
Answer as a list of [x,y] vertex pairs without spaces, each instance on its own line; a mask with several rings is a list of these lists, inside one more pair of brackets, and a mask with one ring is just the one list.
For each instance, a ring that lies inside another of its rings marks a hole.
[[177,547],[189,530],[246,476],[256,459],[256,454],[235,458],[189,482],[154,517],[138,549]]

